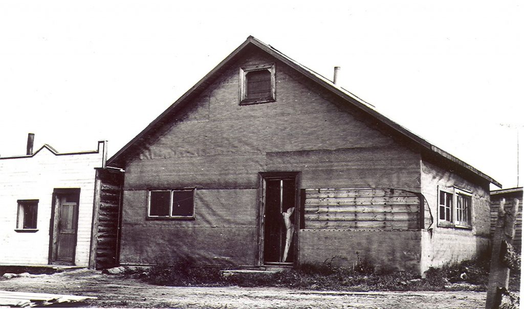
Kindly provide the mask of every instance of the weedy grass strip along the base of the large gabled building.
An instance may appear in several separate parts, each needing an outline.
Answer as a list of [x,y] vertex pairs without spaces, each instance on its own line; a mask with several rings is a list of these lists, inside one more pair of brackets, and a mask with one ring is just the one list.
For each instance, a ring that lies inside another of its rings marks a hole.
[[[223,277],[219,268],[196,267],[190,259],[151,267],[148,271],[130,271],[126,275],[157,285],[183,287],[237,285],[339,291],[486,291],[489,261],[474,259],[431,268],[425,278],[406,271],[376,274],[373,267],[363,261],[354,267],[336,267],[326,261],[272,274],[243,273]],[[519,291],[519,284],[520,273],[516,273],[510,280],[510,290]]]

